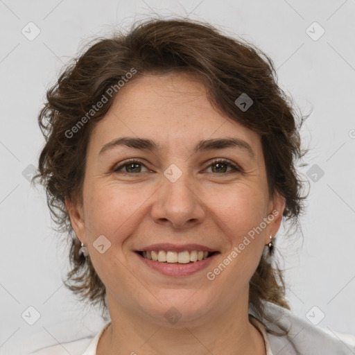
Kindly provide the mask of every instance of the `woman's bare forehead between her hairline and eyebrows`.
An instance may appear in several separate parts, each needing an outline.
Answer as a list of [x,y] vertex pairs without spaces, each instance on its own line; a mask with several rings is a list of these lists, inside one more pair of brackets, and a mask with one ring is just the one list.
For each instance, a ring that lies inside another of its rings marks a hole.
[[159,148],[192,150],[203,139],[238,137],[257,154],[259,135],[220,114],[207,98],[205,86],[187,73],[143,76],[126,83],[106,116],[96,123],[92,144],[101,149],[119,137],[159,141]]

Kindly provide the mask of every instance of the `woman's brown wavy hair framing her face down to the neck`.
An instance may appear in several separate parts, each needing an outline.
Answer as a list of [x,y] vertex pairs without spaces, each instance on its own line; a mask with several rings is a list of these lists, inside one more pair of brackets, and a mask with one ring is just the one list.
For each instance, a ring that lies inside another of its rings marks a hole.
[[[90,257],[78,256],[80,241],[73,232],[64,201],[68,197],[83,203],[86,148],[92,128],[119,94],[119,80],[128,78],[132,69],[136,73],[130,80],[146,73],[181,71],[196,75],[218,112],[261,136],[270,196],[278,192],[286,201],[284,222],[299,229],[306,198],[297,172],[297,162],[307,152],[300,145],[304,117],[295,113],[291,99],[277,85],[272,60],[260,49],[223,34],[210,24],[189,19],[148,19],[136,23],[126,34],[97,38],[67,64],[46,92],[38,116],[46,143],[34,179],[40,179],[46,189],[47,205],[58,225],[56,230],[69,237],[71,270],[65,286],[80,300],[100,304],[103,312],[107,311],[105,286]],[[107,90],[114,85],[114,94],[107,97]],[[244,112],[234,103],[243,93],[254,101]],[[93,110],[103,95],[107,102],[100,110]],[[85,115],[87,119],[83,119]],[[79,121],[83,123],[80,127]],[[75,134],[70,133],[74,131]],[[264,313],[265,301],[291,309],[285,295],[283,271],[275,258],[271,263],[263,254],[250,279],[249,293],[250,306],[259,320],[270,320]]]

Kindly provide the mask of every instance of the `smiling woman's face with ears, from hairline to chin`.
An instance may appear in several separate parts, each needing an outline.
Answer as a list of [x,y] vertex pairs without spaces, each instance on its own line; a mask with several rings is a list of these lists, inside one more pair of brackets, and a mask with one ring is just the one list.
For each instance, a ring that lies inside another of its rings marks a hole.
[[[118,144],[123,137],[136,142]],[[201,144],[211,139],[235,144]],[[121,88],[89,140],[83,205],[67,201],[67,208],[105,284],[109,308],[121,306],[159,324],[171,306],[194,322],[247,300],[263,248],[279,229],[284,199],[268,195],[259,135],[216,112],[198,80],[168,74]],[[181,249],[216,253],[179,264],[138,253]]]

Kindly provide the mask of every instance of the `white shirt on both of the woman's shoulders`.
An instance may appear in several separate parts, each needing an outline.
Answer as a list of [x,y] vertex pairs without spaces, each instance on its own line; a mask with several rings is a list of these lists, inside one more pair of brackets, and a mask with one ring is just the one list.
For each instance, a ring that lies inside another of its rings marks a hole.
[[[250,322],[259,329],[266,347],[266,355],[354,355],[355,335],[331,333],[314,326],[310,322],[293,315],[288,309],[271,302],[265,303],[265,311],[272,319],[272,323],[263,320],[266,327],[282,332],[278,327],[289,329],[288,336],[274,336],[268,333],[263,324],[249,310],[252,317]],[[75,340],[70,343],[53,345],[33,352],[30,355],[96,355],[98,340],[103,331],[111,324],[108,322],[95,336]]]

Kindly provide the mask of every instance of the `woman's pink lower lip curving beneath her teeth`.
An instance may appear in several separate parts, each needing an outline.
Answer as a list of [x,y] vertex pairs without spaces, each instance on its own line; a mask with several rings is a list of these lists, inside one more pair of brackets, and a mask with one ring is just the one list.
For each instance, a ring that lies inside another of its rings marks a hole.
[[143,261],[146,266],[153,268],[167,276],[189,276],[203,270],[209,266],[209,264],[214,260],[218,253],[212,255],[211,257],[201,260],[194,261],[193,263],[161,263],[160,261],[153,261],[142,257],[140,254],[135,252],[139,259]]

